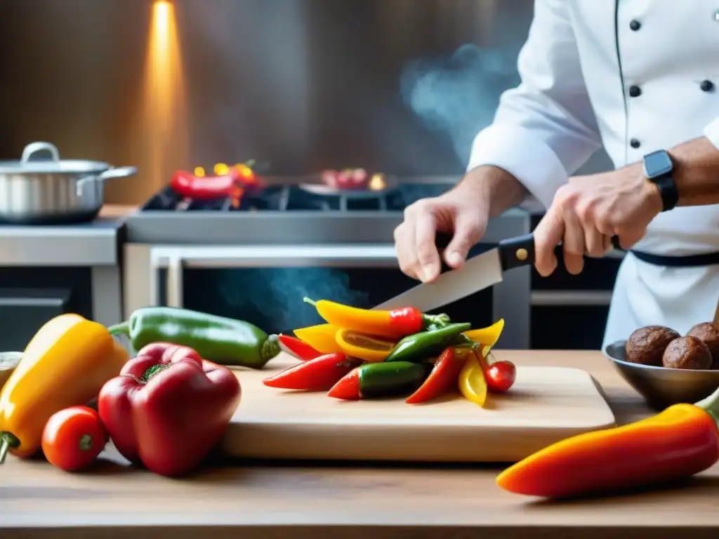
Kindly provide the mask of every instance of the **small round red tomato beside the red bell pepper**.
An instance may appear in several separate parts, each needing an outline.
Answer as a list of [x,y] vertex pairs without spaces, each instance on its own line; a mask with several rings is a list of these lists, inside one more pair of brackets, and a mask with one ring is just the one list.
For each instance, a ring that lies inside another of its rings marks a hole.
[[42,431],[42,452],[52,466],[78,471],[95,461],[107,441],[99,414],[86,406],[72,406],[47,420]]

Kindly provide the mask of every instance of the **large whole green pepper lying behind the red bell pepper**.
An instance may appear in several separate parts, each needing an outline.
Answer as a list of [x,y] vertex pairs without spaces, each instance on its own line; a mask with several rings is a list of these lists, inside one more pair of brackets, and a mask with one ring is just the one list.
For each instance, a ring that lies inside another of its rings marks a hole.
[[280,353],[277,336],[249,322],[175,307],[140,308],[108,329],[128,336],[135,350],[156,342],[179,344],[221,365],[262,369]]

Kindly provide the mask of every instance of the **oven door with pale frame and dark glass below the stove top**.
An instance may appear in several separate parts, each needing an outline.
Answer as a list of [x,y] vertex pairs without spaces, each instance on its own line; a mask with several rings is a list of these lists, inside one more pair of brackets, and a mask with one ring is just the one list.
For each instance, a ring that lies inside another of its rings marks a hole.
[[[482,244],[472,255],[494,247]],[[400,272],[390,244],[273,246],[144,246],[125,248],[126,315],[170,305],[254,323],[267,333],[324,323],[303,298],[372,308],[416,285]],[[530,274],[505,281],[435,312],[473,327],[505,318],[503,348],[529,344]]]

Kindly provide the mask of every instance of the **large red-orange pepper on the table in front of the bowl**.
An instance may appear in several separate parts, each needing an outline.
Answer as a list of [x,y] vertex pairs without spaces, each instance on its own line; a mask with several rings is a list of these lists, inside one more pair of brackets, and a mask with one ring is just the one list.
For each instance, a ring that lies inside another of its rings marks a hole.
[[719,460],[719,390],[621,427],[554,443],[496,479],[516,494],[567,498],[676,481]]

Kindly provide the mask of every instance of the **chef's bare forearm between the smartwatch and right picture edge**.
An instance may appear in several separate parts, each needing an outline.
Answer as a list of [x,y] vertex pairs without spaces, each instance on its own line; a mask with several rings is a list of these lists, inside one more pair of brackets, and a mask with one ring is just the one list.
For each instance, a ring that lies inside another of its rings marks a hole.
[[669,150],[674,161],[677,206],[719,203],[719,150],[706,137],[684,142]]

